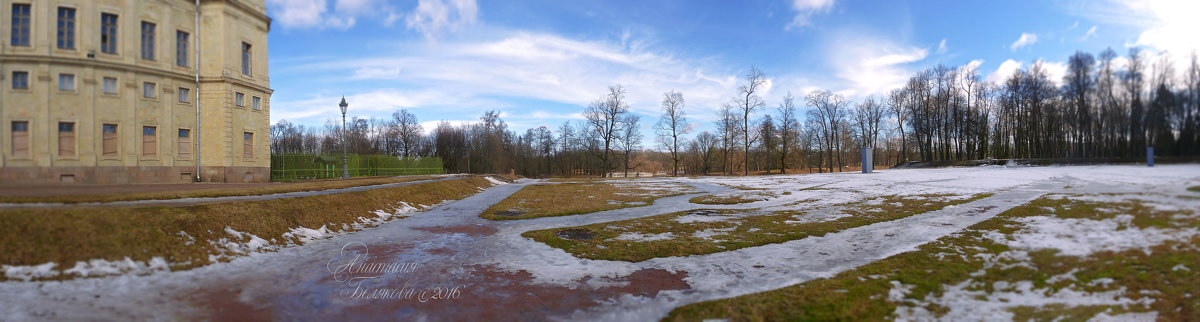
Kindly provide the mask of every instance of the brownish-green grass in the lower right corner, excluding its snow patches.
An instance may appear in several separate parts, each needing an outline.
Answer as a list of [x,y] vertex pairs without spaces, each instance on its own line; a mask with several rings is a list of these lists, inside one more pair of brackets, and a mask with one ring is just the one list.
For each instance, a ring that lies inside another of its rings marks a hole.
[[[1100,251],[1087,257],[1061,256],[1057,250],[1018,251],[1027,255],[1024,260],[997,256],[1013,252],[1007,245],[984,238],[988,233],[1010,234],[1021,227],[1013,219],[1025,216],[1058,216],[1103,220],[1112,215],[1102,209],[1124,209],[1121,214],[1135,217],[1170,219],[1169,227],[1196,227],[1196,217],[1178,216],[1177,211],[1159,211],[1130,202],[1087,202],[1070,198],[1039,198],[1020,205],[966,231],[943,237],[922,245],[917,251],[905,252],[877,261],[829,279],[818,279],[774,291],[746,294],[736,298],[710,300],[685,305],[673,310],[667,321],[695,321],[700,318],[731,318],[734,321],[809,321],[809,320],[884,320],[895,318],[896,308],[923,309],[935,315],[948,312],[948,308],[924,302],[947,292],[946,286],[970,281],[967,290],[997,292],[1000,281],[1009,285],[1027,281],[1037,290],[1056,292],[1072,288],[1081,292],[1106,292],[1124,287],[1123,297],[1130,299],[1152,298],[1148,308],[1142,305],[1043,305],[1015,306],[1008,311],[1019,321],[1050,321],[1061,317],[1087,320],[1099,312],[1157,311],[1164,321],[1181,321],[1200,316],[1200,302],[1195,300],[1200,285],[1200,235],[1190,240],[1170,240],[1152,246],[1151,254],[1142,250]],[[1140,228],[1160,227],[1156,221],[1134,220]],[[989,262],[986,258],[992,258]],[[1182,268],[1181,268],[1182,267]],[[1055,278],[1070,275],[1072,279]],[[1111,280],[1111,282],[1106,282]],[[889,299],[895,284],[911,287],[900,303]],[[1000,290],[1010,291],[1010,290]],[[982,299],[982,298],[980,298]]]

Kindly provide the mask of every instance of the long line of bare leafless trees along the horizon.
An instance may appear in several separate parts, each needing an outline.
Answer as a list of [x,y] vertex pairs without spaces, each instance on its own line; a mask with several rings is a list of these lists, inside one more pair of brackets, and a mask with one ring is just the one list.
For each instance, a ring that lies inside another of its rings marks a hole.
[[[788,93],[768,106],[766,76],[751,68],[718,108],[715,131],[691,133],[683,95],[664,94],[653,136],[629,112],[617,84],[584,107],[586,120],[518,133],[499,113],[478,123],[440,123],[425,135],[401,109],[390,119],[354,118],[347,125],[352,154],[437,156],[449,173],[606,175],[613,172],[749,173],[780,168],[834,171],[858,165],[859,148],[876,165],[910,160],[1082,157],[1128,159],[1200,154],[1200,66],[1196,55],[1177,72],[1168,55],[1146,61],[1133,48],[1123,59],[1108,49],[1078,52],[1056,85],[1037,61],[1000,83],[977,66],[943,66],[912,76],[882,96],[850,102],[829,90]],[[806,118],[800,121],[800,113]],[[341,153],[341,126],[271,126],[272,153]]]

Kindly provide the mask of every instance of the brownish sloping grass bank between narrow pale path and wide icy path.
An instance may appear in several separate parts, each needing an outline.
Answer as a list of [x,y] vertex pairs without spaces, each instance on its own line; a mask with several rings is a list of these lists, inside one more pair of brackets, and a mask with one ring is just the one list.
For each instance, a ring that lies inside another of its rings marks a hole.
[[[287,199],[214,203],[191,207],[66,208],[0,210],[0,264],[55,262],[56,270],[102,258],[149,261],[162,257],[173,270],[211,263],[222,254],[211,243],[230,238],[224,231],[250,233],[272,245],[287,245],[283,233],[295,227],[353,229],[360,217],[406,202],[432,205],[460,199],[488,187],[481,177]],[[182,233],[194,238],[184,237]],[[242,240],[244,242],[244,240]],[[60,275],[58,279],[71,276]]]

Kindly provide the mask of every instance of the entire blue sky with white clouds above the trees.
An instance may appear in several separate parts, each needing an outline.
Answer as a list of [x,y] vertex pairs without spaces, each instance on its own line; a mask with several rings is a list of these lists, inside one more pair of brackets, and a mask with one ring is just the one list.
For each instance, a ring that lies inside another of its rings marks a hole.
[[1200,48],[1200,19],[1189,17],[1200,1],[1192,0],[266,4],[271,121],[310,126],[338,118],[344,95],[349,115],[407,108],[430,130],[498,109],[523,132],[581,119],[607,85],[622,84],[646,126],[662,93],[676,90],[695,127],[708,130],[751,66],[769,78],[762,115],[788,91],[857,101],[937,64],[1002,79],[1043,60],[1061,78],[1075,50],[1123,55],[1139,46],[1178,65]]

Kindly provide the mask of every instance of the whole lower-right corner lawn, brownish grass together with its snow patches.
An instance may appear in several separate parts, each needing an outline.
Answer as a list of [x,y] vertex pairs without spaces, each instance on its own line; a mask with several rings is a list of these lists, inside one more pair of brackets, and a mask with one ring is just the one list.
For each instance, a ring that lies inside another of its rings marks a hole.
[[1049,195],[913,252],[671,316],[1187,320],[1200,315],[1196,203],[1147,193]]

